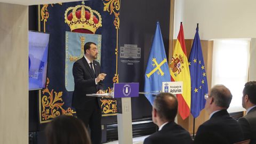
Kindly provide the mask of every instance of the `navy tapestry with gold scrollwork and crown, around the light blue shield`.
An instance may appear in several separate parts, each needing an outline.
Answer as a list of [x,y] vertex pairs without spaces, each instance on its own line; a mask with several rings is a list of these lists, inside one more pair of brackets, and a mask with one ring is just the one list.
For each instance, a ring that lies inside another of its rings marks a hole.
[[[104,81],[106,92],[110,91],[113,83],[118,83],[119,10],[119,0],[38,6],[38,29],[50,33],[47,83],[46,88],[39,92],[40,123],[49,122],[58,115],[76,113],[71,107],[73,91],[66,89],[66,31],[101,35],[101,72],[107,74]],[[80,39],[78,40],[82,43]],[[116,99],[103,98],[101,102],[102,116],[116,115]]]

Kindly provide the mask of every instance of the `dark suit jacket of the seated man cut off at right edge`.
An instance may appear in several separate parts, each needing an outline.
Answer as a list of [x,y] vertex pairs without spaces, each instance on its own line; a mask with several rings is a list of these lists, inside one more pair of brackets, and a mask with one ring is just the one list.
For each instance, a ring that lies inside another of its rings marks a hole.
[[256,107],[252,108],[246,116],[239,118],[244,139],[251,139],[251,144],[256,143]]

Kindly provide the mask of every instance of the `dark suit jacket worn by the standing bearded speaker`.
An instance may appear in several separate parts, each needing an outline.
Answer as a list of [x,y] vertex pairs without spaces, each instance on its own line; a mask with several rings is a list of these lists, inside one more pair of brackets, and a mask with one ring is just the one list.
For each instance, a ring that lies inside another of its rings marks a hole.
[[91,108],[91,105],[97,98],[88,97],[86,94],[97,93],[97,91],[103,89],[101,82],[99,82],[98,85],[95,84],[95,77],[100,74],[100,63],[93,60],[93,66],[96,76],[93,75],[88,62],[84,57],[74,63],[73,75],[75,81],[75,90],[73,93],[72,106],[76,109]]

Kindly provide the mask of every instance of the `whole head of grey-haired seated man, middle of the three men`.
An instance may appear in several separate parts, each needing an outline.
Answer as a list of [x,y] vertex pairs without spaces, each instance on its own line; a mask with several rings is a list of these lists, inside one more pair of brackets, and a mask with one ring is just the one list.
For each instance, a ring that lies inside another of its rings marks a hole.
[[205,110],[211,114],[213,111],[228,109],[232,94],[224,85],[215,85],[210,90],[205,102]]

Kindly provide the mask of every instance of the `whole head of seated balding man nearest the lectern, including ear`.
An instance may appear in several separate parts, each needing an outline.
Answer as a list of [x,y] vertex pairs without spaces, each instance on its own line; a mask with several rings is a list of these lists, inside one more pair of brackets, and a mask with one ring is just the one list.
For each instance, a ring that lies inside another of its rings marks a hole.
[[166,122],[173,122],[178,111],[178,100],[171,93],[160,93],[154,100],[152,119],[161,126]]

